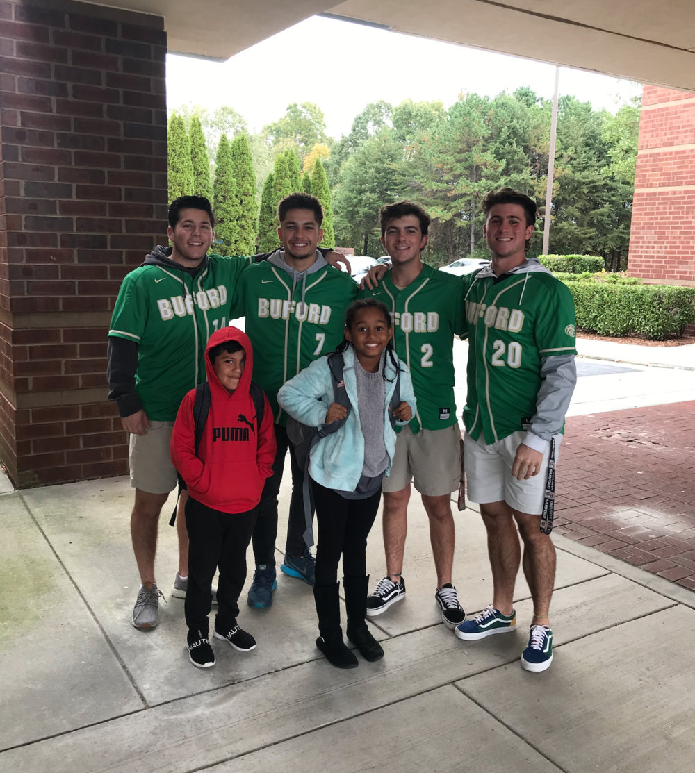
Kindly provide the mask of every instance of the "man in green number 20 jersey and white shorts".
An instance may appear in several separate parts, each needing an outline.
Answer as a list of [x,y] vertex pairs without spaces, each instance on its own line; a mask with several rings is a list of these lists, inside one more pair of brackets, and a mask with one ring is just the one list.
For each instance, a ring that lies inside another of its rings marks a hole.
[[553,660],[548,613],[555,579],[546,519],[552,528],[550,484],[577,382],[574,302],[537,258],[526,259],[536,203],[503,188],[484,197],[483,210],[492,262],[463,278],[469,340],[464,461],[468,497],[480,503],[488,531],[493,598],[455,633],[471,641],[515,630],[518,526],[533,600],[521,665],[544,671]]

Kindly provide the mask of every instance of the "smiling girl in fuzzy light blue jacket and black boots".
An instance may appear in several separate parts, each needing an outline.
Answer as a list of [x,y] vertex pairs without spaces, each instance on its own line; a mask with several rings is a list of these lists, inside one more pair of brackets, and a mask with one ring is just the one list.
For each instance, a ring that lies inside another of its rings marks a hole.
[[358,660],[345,646],[341,629],[337,581],[341,555],[347,638],[366,660],[384,656],[365,622],[369,583],[366,550],[382,496],[382,478],[389,475],[395,453],[389,404],[399,371],[402,402],[393,412],[395,423],[408,424],[416,410],[410,373],[393,351],[392,334],[391,317],[384,304],[367,298],[354,301],[347,309],[344,341],[336,351],[342,352],[344,360],[349,414],[333,401],[334,382],[327,356],[311,363],[278,393],[282,409],[309,427],[322,427],[347,416],[344,426],[313,446],[309,461],[319,529],[313,587],[320,632],[316,643],[328,661],[342,669],[355,668]]

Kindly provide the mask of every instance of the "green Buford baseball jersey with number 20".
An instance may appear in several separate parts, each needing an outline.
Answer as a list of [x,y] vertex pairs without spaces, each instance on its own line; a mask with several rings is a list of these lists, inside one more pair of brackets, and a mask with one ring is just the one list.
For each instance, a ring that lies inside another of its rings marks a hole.
[[[484,271],[484,270],[483,270]],[[468,328],[464,424],[485,444],[522,431],[536,414],[541,360],[577,354],[574,301],[546,271],[463,277]]]

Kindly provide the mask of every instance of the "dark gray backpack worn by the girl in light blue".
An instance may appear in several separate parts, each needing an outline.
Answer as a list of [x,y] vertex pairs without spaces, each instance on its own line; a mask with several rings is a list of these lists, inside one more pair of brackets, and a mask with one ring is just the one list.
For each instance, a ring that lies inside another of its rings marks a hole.
[[[300,470],[304,471],[302,498],[304,501],[306,529],[304,530],[303,536],[306,547],[311,547],[313,545],[312,512],[309,492],[309,453],[321,438],[325,438],[327,435],[333,434],[343,427],[352,410],[352,404],[350,398],[347,397],[343,378],[343,369],[345,367],[343,355],[341,352],[330,352],[327,360],[328,366],[330,367],[330,375],[333,376],[333,402],[343,405],[347,409],[345,418],[340,419],[339,421],[332,421],[330,424],[324,424],[322,427],[308,427],[306,424],[302,424],[293,417],[287,419],[287,437],[294,446],[294,455],[297,465],[299,465]],[[398,373],[395,377],[395,388],[393,390],[391,401],[389,402],[389,420],[391,421],[391,426],[395,424],[393,411],[399,407],[400,404],[401,369],[398,368]]]

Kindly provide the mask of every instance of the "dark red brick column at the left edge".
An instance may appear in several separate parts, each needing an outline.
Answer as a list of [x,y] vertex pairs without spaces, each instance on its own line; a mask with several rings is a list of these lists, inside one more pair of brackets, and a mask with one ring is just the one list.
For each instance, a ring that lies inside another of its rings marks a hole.
[[106,334],[166,243],[158,16],[0,2],[0,461],[26,487],[121,475]]

